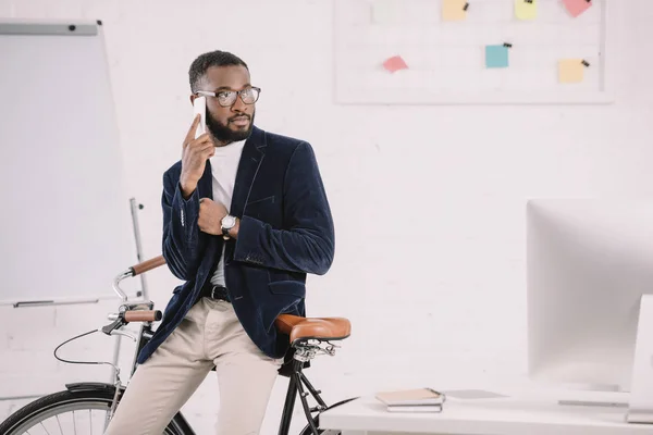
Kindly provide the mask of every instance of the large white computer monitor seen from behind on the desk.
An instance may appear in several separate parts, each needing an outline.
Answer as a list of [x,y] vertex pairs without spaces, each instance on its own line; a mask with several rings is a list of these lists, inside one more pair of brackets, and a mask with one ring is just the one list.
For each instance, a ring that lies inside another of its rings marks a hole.
[[531,378],[629,391],[653,294],[653,200],[530,200],[527,285]]

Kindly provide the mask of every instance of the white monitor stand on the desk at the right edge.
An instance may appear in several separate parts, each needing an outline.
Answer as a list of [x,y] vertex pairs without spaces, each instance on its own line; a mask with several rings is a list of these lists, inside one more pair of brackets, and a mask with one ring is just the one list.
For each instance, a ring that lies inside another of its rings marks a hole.
[[653,424],[653,295],[641,299],[626,421]]

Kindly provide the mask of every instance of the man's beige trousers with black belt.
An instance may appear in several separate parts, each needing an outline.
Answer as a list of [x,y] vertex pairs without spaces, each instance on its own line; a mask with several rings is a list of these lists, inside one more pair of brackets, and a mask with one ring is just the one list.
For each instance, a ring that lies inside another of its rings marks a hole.
[[215,365],[219,435],[258,434],[283,359],[251,341],[231,303],[201,298],[136,369],[106,435],[160,435]]

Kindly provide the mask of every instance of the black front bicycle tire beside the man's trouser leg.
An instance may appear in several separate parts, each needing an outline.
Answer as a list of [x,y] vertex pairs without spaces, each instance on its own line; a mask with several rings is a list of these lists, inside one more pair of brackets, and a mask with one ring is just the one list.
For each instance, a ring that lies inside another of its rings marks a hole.
[[[109,411],[115,389],[110,385],[90,389],[66,389],[44,396],[12,413],[0,423],[0,434],[23,435],[27,430],[42,424],[54,415],[76,410],[99,409]],[[58,420],[58,418],[56,418]],[[91,418],[93,419],[93,418]],[[91,420],[93,422],[93,420]],[[93,423],[91,423],[93,424]],[[165,427],[164,435],[188,435],[184,430],[185,420],[176,414]],[[190,432],[193,434],[193,432]]]

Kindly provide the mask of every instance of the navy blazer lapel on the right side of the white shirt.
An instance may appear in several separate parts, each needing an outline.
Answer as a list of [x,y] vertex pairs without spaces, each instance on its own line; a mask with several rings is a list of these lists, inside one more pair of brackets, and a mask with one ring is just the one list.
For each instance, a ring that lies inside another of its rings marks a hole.
[[266,134],[261,129],[254,127],[251,135],[245,141],[243,154],[236,172],[236,182],[230,207],[230,214],[241,217],[245,210],[245,204],[249,198],[251,185],[256,179],[258,170],[266,157]]

